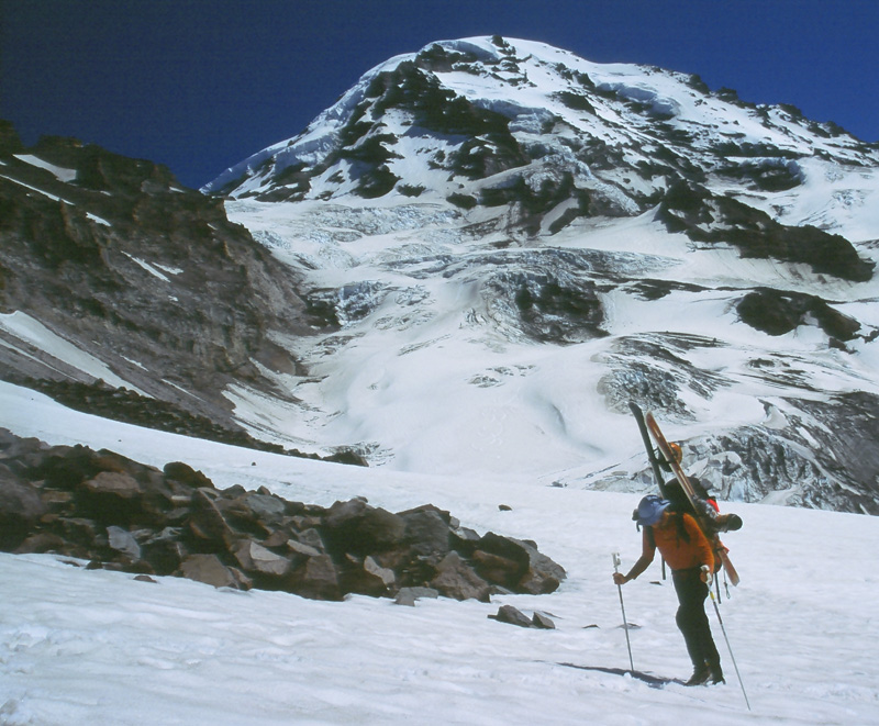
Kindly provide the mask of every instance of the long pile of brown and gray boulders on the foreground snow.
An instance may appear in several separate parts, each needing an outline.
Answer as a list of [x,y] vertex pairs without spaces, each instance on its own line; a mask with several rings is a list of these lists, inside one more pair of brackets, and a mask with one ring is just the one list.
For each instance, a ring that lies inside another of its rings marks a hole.
[[158,470],[4,429],[0,550],[316,600],[407,601],[426,588],[488,602],[496,592],[549,593],[565,578],[533,541],[480,536],[431,504],[394,514],[363,498],[323,507],[265,488],[221,491],[182,462]]

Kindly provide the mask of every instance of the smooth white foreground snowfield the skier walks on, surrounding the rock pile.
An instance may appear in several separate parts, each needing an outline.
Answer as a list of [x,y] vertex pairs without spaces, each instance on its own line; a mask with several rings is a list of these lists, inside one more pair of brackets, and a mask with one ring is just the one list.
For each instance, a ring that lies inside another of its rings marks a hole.
[[[73,412],[0,383],[0,426],[163,466],[183,460],[218,487],[266,485],[327,505],[365,495],[391,511],[431,502],[465,526],[532,538],[568,579],[490,604],[342,603],[141,582],[85,562],[0,555],[0,724],[845,724],[879,721],[876,517],[722,503],[745,526],[725,541],[742,574],[715,613],[724,685],[653,688],[631,675],[611,554],[639,554],[639,494],[489,477],[431,477],[296,459]],[[619,435],[637,440],[634,421]],[[505,504],[511,511],[500,511]],[[623,588],[636,670],[687,678],[676,597],[657,563]],[[502,604],[555,630],[489,619]],[[709,605],[711,607],[711,605]],[[636,626],[636,627],[635,627]],[[566,664],[567,663],[567,664]]]

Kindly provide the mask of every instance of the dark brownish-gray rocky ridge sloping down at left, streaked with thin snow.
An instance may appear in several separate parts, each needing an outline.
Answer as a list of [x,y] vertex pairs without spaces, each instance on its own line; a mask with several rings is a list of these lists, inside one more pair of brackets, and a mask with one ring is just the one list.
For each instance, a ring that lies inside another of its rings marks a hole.
[[[19,152],[64,174],[0,153],[3,311],[89,350],[107,368],[104,382],[164,402],[181,428],[189,414],[241,432],[222,395],[232,383],[285,395],[271,376],[294,372],[297,361],[274,339],[313,334],[319,321],[297,275],[230,223],[221,200],[181,187],[162,166],[75,139]],[[0,346],[5,380],[60,390],[98,379],[0,336],[12,344]]]

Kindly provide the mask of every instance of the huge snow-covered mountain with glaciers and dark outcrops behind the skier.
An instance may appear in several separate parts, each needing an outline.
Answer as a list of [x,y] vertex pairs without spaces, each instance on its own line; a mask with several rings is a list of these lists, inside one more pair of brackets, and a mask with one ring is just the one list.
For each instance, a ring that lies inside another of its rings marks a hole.
[[[45,156],[19,150],[0,175],[78,185]],[[832,123],[694,76],[468,38],[374,68],[203,191],[272,253],[260,270],[282,263],[236,298],[260,291],[251,330],[272,355],[236,348],[248,375],[196,391],[258,438],[641,491],[635,400],[721,498],[879,513],[879,148]],[[74,201],[68,214],[100,216]],[[173,248],[127,252],[127,275],[183,269]],[[143,275],[145,290],[167,282]],[[3,311],[20,358],[52,347],[22,314],[70,338],[29,304]],[[163,376],[77,340],[115,384]]]

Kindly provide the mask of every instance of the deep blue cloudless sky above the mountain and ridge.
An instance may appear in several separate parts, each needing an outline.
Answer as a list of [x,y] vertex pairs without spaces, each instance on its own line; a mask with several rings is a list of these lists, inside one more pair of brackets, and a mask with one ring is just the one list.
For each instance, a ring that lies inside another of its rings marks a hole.
[[879,0],[0,0],[0,118],[198,187],[432,41],[543,41],[699,74],[879,141]]

